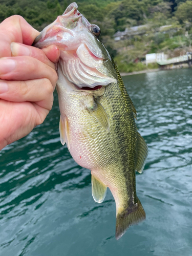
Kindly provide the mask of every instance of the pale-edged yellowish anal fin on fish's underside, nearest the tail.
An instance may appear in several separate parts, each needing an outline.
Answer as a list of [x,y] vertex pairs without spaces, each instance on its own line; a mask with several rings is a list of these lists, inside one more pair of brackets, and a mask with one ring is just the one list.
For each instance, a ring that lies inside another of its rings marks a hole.
[[91,176],[92,183],[92,196],[95,202],[102,203],[106,196],[106,186],[98,179],[96,179],[93,174]]

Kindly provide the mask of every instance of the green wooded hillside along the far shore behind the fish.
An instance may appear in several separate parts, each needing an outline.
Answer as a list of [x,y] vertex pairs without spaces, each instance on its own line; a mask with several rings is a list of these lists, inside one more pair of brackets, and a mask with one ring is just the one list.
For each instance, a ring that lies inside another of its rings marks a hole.
[[[19,14],[41,31],[74,1],[0,0],[0,22]],[[101,29],[101,40],[121,73],[158,69],[145,55],[173,58],[192,52],[190,0],[79,0],[79,11]]]

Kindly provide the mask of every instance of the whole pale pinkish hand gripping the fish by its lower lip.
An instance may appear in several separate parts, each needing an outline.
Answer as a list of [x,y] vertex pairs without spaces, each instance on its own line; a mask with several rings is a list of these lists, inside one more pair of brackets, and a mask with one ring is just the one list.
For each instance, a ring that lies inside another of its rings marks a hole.
[[0,24],[0,150],[41,124],[53,105],[59,49],[32,47],[37,35],[18,15]]

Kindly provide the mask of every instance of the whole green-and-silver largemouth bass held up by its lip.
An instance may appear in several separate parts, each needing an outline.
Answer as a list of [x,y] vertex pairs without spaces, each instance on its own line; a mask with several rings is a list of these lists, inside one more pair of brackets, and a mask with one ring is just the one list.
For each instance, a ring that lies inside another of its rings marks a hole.
[[145,219],[136,195],[147,145],[137,131],[136,110],[119,71],[91,25],[72,3],[35,39],[34,46],[56,45],[60,140],[74,160],[91,170],[92,195],[101,203],[109,187],[116,203],[116,239]]

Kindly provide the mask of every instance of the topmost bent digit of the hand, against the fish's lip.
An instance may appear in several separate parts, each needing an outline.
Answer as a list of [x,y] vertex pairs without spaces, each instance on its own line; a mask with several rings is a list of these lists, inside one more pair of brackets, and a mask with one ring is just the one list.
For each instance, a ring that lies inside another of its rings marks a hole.
[[31,27],[22,16],[13,15],[6,18],[0,24],[0,38],[3,38],[1,40],[0,58],[11,57],[11,49],[7,47],[10,46],[11,42],[32,45],[37,35],[39,35],[39,32]]

